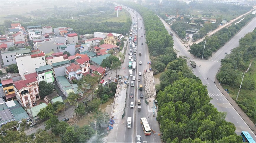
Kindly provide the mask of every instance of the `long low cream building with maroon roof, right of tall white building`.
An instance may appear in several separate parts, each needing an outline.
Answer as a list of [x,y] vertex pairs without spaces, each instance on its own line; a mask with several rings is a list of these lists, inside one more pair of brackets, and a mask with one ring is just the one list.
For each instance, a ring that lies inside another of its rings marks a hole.
[[68,55],[63,55],[63,52],[53,53],[50,57],[46,57],[47,64],[52,64],[56,62],[68,61]]

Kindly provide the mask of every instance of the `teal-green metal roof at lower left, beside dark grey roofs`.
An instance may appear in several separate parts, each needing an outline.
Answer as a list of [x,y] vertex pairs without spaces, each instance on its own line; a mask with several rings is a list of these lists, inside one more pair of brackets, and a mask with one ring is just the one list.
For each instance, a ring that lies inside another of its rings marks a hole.
[[[29,118],[27,112],[22,108],[22,106],[18,103],[18,101],[13,100],[16,105],[9,107],[12,114],[14,115],[15,121],[21,121],[22,119]],[[12,101],[12,102],[13,102]],[[8,101],[9,102],[9,101]]]

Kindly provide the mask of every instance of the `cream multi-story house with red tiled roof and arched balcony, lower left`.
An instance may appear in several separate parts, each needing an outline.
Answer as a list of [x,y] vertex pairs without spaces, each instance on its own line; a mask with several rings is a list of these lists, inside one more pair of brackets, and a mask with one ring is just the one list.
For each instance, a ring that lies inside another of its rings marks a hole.
[[16,98],[22,107],[32,107],[40,99],[38,92],[38,83],[35,77],[23,81],[14,82],[14,91]]

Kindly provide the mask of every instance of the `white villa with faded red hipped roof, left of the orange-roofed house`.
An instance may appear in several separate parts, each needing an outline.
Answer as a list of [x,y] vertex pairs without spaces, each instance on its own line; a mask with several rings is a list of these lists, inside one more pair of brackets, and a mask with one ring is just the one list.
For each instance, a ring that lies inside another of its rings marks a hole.
[[70,64],[69,67],[66,67],[66,77],[72,81],[73,79],[82,78],[81,67],[75,63]]

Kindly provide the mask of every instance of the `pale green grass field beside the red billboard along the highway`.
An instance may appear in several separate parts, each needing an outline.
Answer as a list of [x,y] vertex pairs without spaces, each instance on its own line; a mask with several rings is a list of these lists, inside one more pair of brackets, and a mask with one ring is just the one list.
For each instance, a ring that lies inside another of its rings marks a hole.
[[114,17],[104,19],[103,21],[99,21],[99,23],[106,22],[106,21],[108,21],[108,22],[126,22],[127,18],[131,18],[129,16],[128,11],[126,11],[126,10],[119,11],[118,15],[119,15],[119,17],[117,17],[117,11],[115,11],[113,14],[111,14],[111,16],[114,16]]

